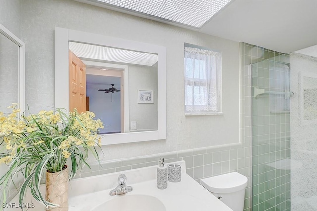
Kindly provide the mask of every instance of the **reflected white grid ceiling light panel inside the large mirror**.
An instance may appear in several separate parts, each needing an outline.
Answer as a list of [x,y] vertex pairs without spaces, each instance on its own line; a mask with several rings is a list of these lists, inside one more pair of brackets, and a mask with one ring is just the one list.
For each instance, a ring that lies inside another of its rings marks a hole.
[[85,43],[69,42],[69,50],[77,57],[97,59],[111,62],[152,66],[158,62],[158,55],[136,52],[106,46],[96,46]]

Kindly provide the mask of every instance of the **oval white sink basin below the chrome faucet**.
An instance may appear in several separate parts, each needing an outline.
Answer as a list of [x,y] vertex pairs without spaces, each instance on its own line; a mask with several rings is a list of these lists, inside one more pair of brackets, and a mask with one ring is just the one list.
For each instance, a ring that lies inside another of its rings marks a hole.
[[166,211],[164,204],[156,197],[149,195],[117,195],[92,211]]

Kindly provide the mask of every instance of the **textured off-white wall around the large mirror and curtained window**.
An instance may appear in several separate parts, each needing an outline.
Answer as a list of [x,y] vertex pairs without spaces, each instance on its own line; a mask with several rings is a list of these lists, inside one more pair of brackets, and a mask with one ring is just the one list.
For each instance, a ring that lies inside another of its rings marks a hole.
[[[239,142],[237,42],[77,1],[22,1],[22,6],[26,103],[33,111],[54,104],[55,26],[166,47],[167,139],[106,146],[105,160]],[[222,51],[224,115],[184,116],[184,42]]]

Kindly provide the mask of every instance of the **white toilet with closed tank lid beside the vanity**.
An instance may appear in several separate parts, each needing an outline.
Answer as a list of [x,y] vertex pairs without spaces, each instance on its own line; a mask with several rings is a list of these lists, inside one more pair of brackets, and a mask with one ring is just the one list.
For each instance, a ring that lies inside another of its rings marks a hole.
[[232,172],[200,180],[200,184],[234,211],[243,211],[248,178]]

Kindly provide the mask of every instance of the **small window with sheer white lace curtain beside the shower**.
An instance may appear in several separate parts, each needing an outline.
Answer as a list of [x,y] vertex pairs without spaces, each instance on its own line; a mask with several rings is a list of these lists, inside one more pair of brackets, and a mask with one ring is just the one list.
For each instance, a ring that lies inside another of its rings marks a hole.
[[185,44],[185,115],[222,112],[222,53]]

